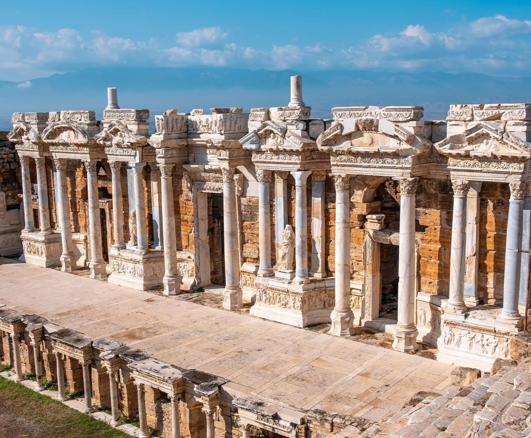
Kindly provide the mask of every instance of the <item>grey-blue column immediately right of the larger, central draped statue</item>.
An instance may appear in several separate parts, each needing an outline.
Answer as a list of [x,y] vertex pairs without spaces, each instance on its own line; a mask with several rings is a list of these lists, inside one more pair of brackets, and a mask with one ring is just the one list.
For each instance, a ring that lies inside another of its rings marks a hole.
[[308,207],[306,181],[311,171],[291,172],[295,179],[295,278],[294,283],[308,281]]

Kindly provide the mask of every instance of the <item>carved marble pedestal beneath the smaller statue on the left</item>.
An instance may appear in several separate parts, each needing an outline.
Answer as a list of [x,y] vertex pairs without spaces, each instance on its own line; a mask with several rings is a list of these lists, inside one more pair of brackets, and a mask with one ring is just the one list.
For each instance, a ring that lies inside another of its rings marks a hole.
[[153,249],[139,254],[121,249],[109,254],[110,275],[108,282],[136,290],[162,287],[164,276],[164,251]]

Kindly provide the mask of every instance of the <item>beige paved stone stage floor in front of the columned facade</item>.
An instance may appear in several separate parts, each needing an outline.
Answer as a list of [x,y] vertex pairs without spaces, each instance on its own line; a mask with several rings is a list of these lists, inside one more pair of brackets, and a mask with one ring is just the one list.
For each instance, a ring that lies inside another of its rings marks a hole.
[[453,365],[0,258],[0,302],[230,379],[233,395],[380,420]]

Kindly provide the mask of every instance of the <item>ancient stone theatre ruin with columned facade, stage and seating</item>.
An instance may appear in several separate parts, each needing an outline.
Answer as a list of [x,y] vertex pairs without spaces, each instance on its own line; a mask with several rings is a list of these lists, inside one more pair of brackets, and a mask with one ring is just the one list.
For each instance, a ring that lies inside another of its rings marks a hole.
[[[115,88],[101,121],[14,113],[22,225],[0,191],[0,255],[20,234],[25,265],[2,269],[56,287],[0,292],[3,360],[59,399],[84,391],[113,425],[139,418],[141,437],[529,434],[531,104],[423,112],[312,119],[294,76],[286,106],[172,109],[154,130]],[[226,310],[177,299],[203,290]],[[328,334],[296,328],[316,324]],[[465,388],[456,366],[485,374]]]

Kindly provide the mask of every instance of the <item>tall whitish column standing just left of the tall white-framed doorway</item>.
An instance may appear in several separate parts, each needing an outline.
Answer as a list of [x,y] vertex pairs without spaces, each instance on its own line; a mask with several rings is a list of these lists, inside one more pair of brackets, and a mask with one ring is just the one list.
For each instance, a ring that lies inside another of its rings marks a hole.
[[175,236],[175,210],[173,199],[174,164],[159,164],[162,204],[162,230],[164,230],[164,284],[165,295],[181,292],[181,274],[177,266],[177,240]]

